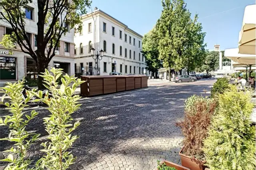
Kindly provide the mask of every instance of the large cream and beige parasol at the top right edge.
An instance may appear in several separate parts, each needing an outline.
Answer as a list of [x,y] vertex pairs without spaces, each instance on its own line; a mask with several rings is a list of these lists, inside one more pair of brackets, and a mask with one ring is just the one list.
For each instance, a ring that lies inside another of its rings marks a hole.
[[248,5],[244,10],[242,29],[239,33],[238,48],[240,54],[255,55],[256,42],[256,5]]

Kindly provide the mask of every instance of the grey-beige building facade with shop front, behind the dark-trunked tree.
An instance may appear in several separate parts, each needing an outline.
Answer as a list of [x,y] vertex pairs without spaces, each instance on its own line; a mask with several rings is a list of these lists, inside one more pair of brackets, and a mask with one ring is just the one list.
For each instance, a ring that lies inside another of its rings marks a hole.
[[[34,51],[36,50],[37,42],[37,1],[33,0],[26,12],[26,27],[27,36],[30,39],[30,44]],[[0,20],[0,42],[4,34],[11,34],[12,27],[7,22]],[[66,35],[60,39],[60,47],[56,50],[56,55],[48,64],[48,68],[58,67],[63,68],[64,72],[73,75],[74,71],[74,29],[70,29]],[[23,53],[20,46],[16,44],[14,49],[5,49],[0,44],[0,86],[4,86],[6,82],[15,82],[22,79],[24,76],[30,78],[37,77],[36,63],[32,57]]]

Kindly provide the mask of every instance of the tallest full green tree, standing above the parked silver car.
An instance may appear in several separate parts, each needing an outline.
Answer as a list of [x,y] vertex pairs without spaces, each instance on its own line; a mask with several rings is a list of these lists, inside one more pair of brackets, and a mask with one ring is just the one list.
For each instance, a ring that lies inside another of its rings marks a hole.
[[202,65],[205,58],[205,33],[198,23],[198,16],[194,20],[186,9],[184,0],[162,0],[162,14],[156,28],[159,35],[159,58],[164,67],[174,67],[181,70],[187,67],[194,70]]

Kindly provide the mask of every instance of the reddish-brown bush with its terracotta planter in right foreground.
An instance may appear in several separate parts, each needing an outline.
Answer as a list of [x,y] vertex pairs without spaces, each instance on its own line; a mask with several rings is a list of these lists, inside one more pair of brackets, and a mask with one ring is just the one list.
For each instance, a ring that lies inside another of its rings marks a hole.
[[216,101],[207,96],[194,95],[185,101],[184,120],[176,123],[184,135],[183,147],[179,152],[182,166],[191,170],[204,170],[203,141],[216,106]]

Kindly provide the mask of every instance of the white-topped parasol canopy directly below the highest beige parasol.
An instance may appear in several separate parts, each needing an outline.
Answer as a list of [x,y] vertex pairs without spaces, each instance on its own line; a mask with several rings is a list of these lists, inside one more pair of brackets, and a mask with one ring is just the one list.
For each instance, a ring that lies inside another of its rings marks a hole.
[[240,54],[239,49],[226,49],[224,56],[236,63],[256,64],[256,55]]

